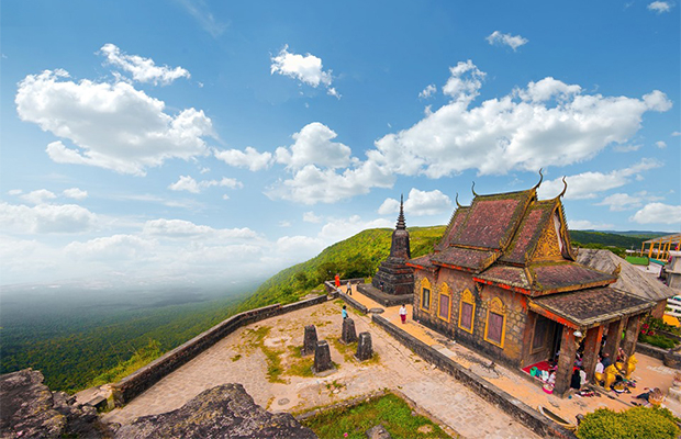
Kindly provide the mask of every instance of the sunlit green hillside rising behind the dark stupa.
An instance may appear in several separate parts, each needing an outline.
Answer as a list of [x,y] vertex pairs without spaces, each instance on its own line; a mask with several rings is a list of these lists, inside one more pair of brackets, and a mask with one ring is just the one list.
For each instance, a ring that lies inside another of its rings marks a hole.
[[[410,227],[412,257],[427,255],[439,240],[445,226]],[[373,275],[390,254],[392,229],[372,228],[327,247],[319,256],[280,271],[258,288],[238,307],[246,311],[273,303],[287,304],[300,300],[335,273],[340,279]]]

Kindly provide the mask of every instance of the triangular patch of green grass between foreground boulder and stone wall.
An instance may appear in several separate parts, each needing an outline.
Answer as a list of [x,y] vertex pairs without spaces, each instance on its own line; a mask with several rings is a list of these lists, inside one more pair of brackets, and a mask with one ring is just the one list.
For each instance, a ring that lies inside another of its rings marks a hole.
[[302,424],[322,439],[366,439],[366,431],[379,424],[394,439],[449,438],[431,419],[412,416],[411,407],[393,394],[350,408],[332,409],[305,419]]

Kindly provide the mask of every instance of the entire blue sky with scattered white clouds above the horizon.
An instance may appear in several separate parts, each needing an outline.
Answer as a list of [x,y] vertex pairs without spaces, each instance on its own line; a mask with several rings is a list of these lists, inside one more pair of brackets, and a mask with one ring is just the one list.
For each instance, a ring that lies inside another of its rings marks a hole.
[[0,3],[0,284],[228,285],[533,187],[681,232],[677,1]]

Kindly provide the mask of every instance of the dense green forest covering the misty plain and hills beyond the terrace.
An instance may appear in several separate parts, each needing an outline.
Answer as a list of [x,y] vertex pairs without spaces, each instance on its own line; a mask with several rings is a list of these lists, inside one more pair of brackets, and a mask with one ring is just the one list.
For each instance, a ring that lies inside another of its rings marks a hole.
[[[433,249],[445,226],[410,227],[412,257]],[[392,229],[364,230],[315,258],[290,267],[253,293],[253,288],[127,290],[49,289],[2,292],[2,373],[41,370],[53,390],[75,392],[115,381],[238,312],[291,303],[321,289],[335,273],[371,277],[390,252]],[[625,236],[571,230],[577,247],[607,248],[618,255],[640,248],[649,235]]]

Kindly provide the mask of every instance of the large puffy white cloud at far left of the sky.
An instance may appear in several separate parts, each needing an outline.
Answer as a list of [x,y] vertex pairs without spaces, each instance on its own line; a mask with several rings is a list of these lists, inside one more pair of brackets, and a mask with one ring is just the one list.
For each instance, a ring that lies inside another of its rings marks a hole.
[[19,82],[15,98],[22,121],[78,147],[51,143],[47,154],[54,161],[143,176],[167,159],[208,153],[201,137],[213,135],[213,128],[203,111],[187,109],[171,116],[163,101],[129,83],[67,78],[64,70],[29,75]]

